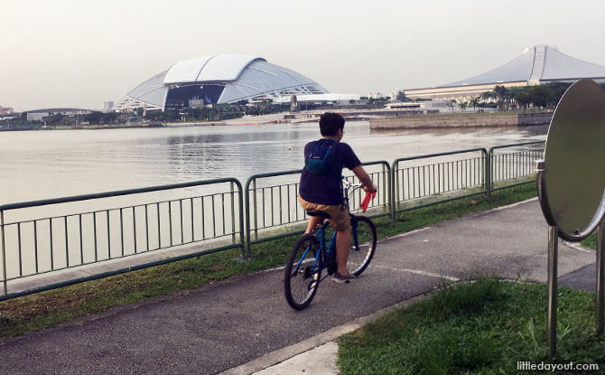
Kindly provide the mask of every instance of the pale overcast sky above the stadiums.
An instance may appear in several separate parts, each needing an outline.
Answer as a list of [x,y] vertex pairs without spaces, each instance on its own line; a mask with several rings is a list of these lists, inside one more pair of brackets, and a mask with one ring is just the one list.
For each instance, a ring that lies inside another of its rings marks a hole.
[[173,63],[250,54],[331,92],[482,73],[535,44],[605,65],[605,1],[0,0],[0,106],[102,108]]

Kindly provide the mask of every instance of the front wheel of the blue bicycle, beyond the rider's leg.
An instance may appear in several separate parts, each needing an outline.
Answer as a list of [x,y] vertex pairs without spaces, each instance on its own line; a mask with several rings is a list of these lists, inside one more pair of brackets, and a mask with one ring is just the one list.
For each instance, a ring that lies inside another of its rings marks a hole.
[[376,227],[372,220],[365,216],[351,218],[351,245],[347,268],[355,276],[368,267],[376,250]]

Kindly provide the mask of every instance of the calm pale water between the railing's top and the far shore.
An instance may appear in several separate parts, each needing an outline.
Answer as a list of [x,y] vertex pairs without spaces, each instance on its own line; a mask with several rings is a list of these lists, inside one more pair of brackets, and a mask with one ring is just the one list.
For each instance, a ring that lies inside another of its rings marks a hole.
[[[345,127],[362,161],[544,140],[547,127],[370,132]],[[0,133],[0,204],[302,167],[317,124]]]

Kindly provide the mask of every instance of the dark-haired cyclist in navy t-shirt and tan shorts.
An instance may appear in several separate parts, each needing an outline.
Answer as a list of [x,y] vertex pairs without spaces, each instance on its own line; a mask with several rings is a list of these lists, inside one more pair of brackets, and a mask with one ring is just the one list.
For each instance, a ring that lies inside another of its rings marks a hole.
[[[355,276],[349,274],[347,260],[350,247],[349,211],[342,196],[341,173],[346,166],[363,183],[364,190],[376,192],[368,173],[353,149],[340,143],[344,135],[345,119],[337,113],[324,113],[320,117],[320,140],[304,146],[305,167],[302,170],[298,202],[303,210],[323,211],[330,215],[330,225],[336,230],[337,270],[332,280],[349,283]],[[321,223],[320,216],[312,216],[305,233]]]

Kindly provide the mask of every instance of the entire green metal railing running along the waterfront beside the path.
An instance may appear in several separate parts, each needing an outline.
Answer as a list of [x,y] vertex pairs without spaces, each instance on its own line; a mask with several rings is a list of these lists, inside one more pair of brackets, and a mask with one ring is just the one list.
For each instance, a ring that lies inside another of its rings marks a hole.
[[[543,145],[501,145],[489,152],[472,148],[399,158],[391,165],[385,161],[364,163],[378,188],[368,214],[395,220],[397,212],[481,193],[489,196],[499,189],[531,183],[527,178],[535,173],[534,159],[541,156]],[[4,286],[0,301],[230,248],[241,248],[242,257],[250,257],[253,244],[302,233],[306,217],[297,202],[300,173],[302,170],[255,174],[244,188],[237,179],[224,178],[0,206],[0,282]],[[354,175],[345,177],[358,182]],[[225,184],[228,191],[221,187]],[[203,193],[191,192],[202,187]],[[181,196],[174,198],[175,192],[166,192],[175,190],[187,193],[179,192]],[[150,200],[153,192],[165,196]],[[363,194],[358,191],[350,197],[351,211],[360,210]],[[129,197],[126,206],[109,207],[105,201],[124,196]],[[100,208],[83,210],[84,202]],[[192,252],[184,248],[193,244],[199,248]],[[172,258],[14,293],[7,290],[10,281],[181,247],[184,253]]]

